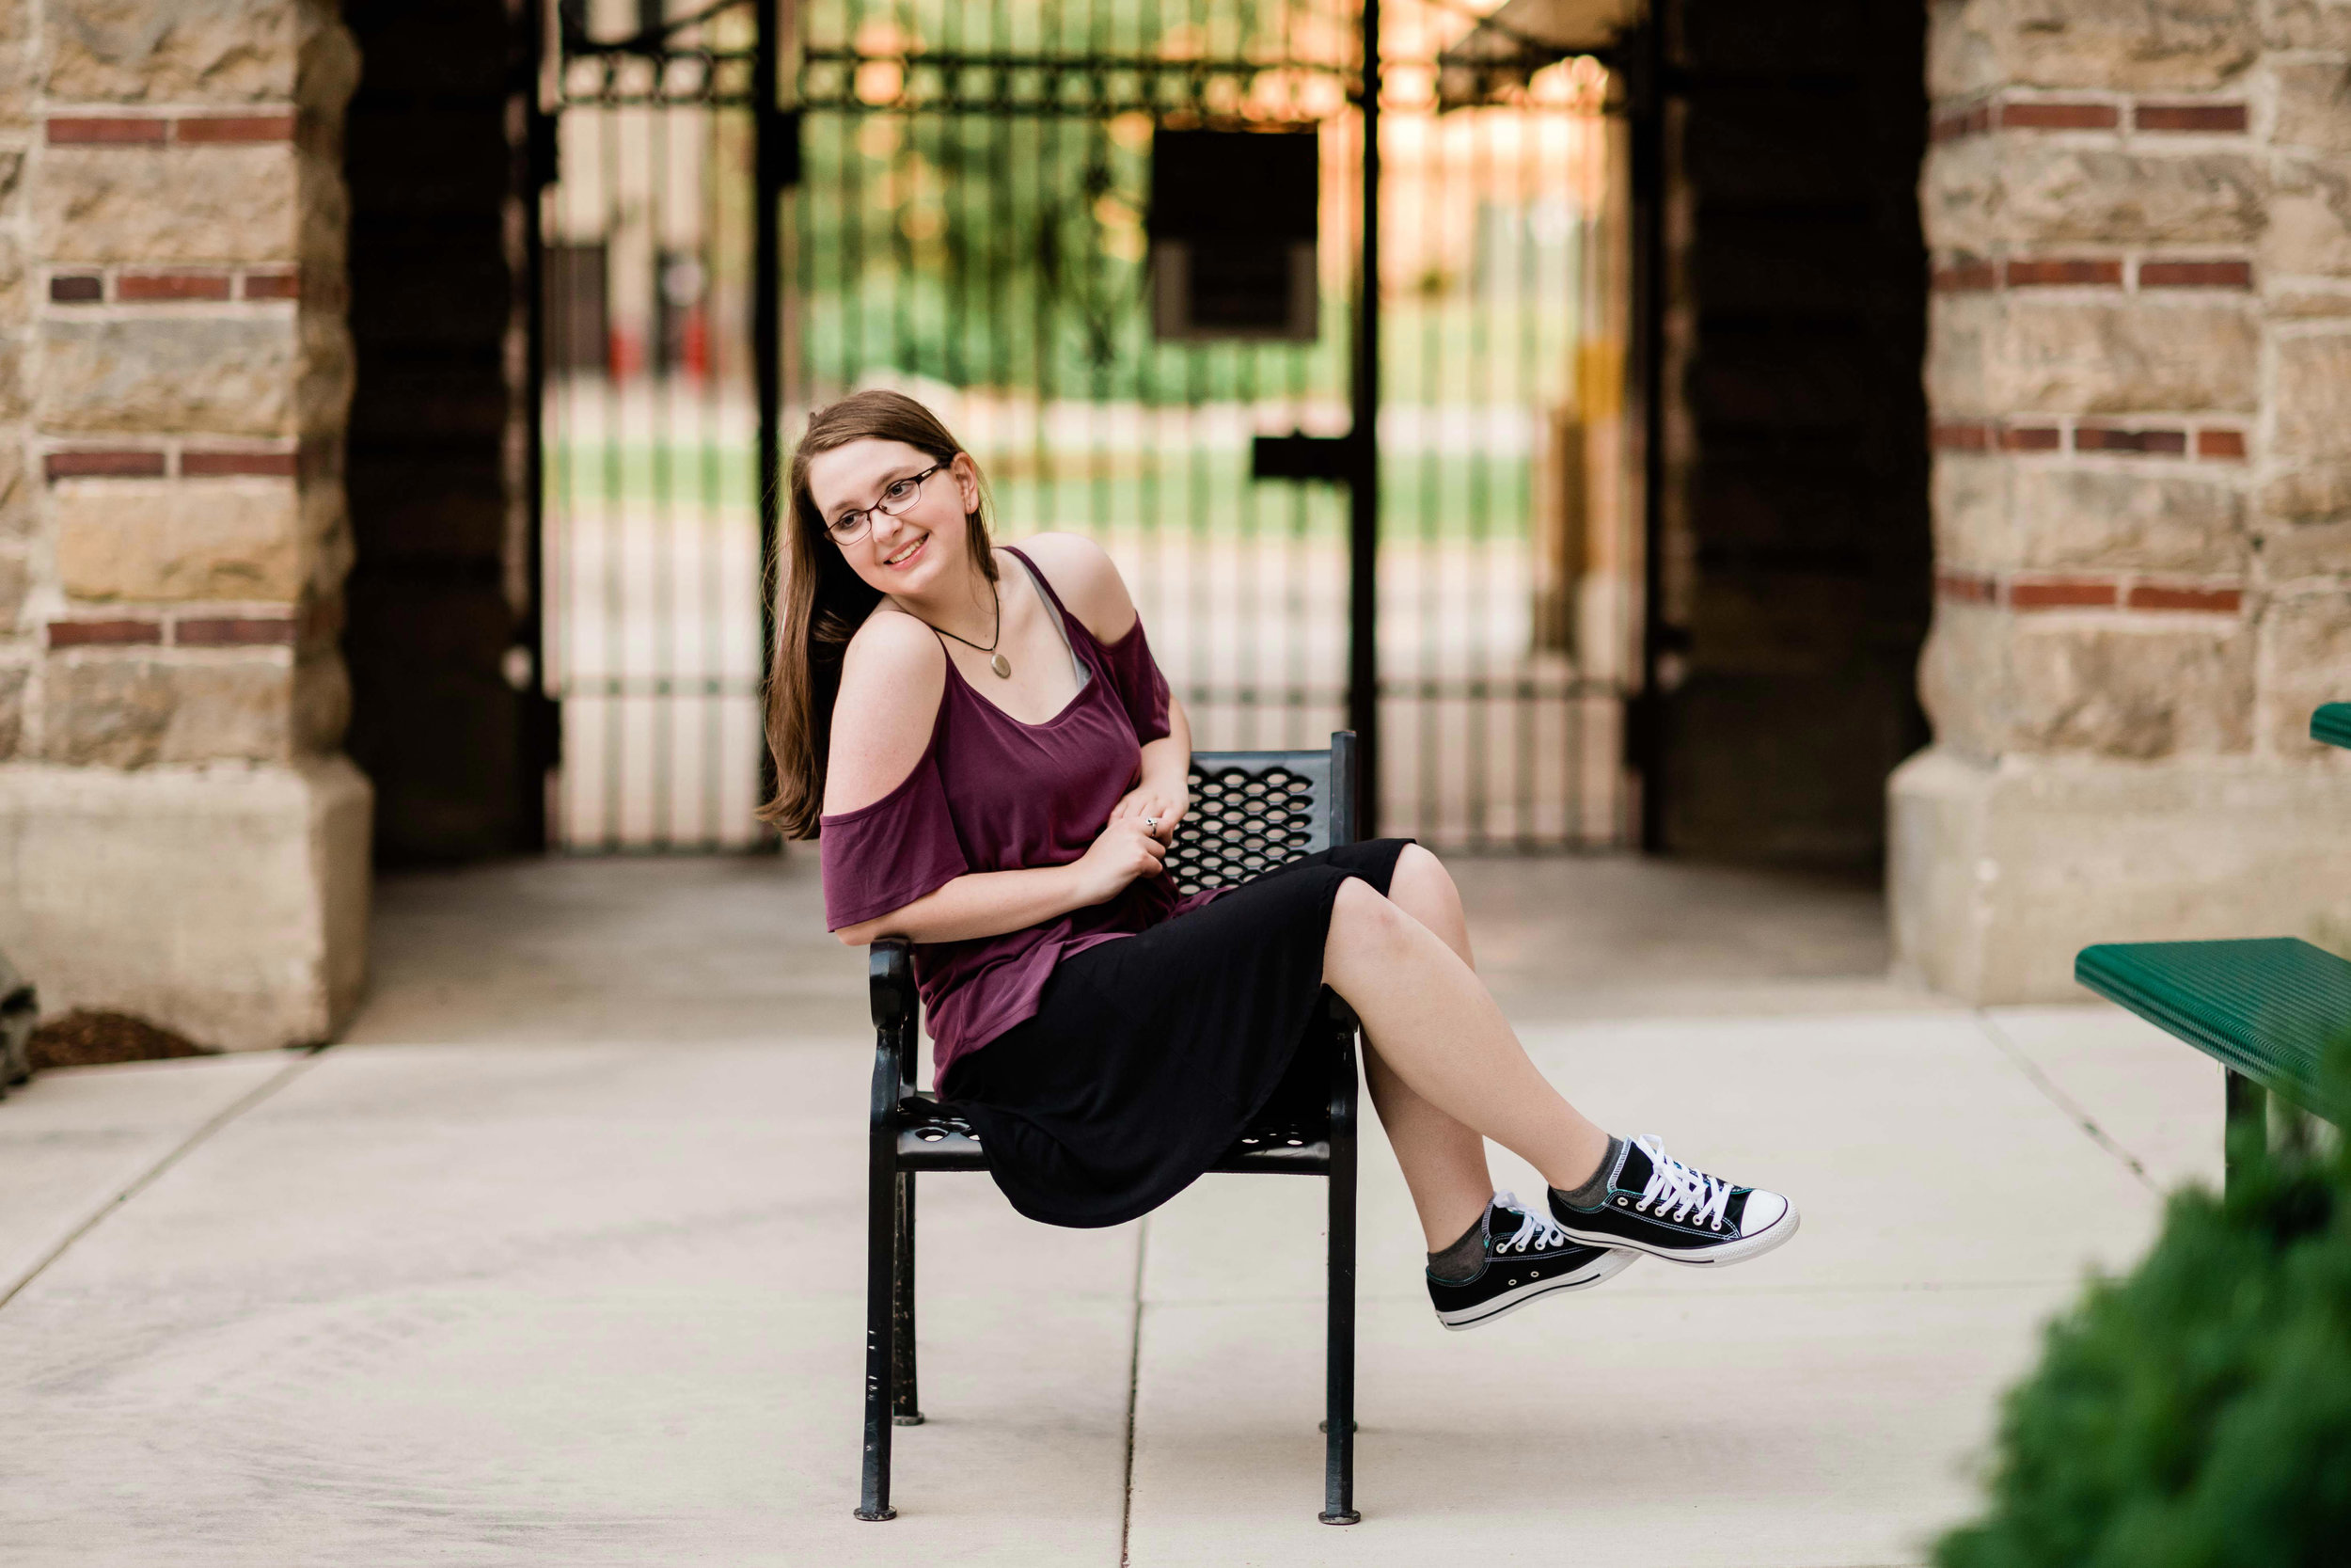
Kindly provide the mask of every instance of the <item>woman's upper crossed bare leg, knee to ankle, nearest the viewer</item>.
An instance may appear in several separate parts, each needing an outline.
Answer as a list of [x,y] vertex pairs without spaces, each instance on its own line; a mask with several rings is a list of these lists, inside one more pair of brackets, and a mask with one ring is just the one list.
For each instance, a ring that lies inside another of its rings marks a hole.
[[[1578,1187],[1599,1168],[1608,1133],[1535,1072],[1476,971],[1359,877],[1340,884],[1331,907],[1324,983],[1354,1006],[1385,1067],[1429,1107],[1516,1152],[1554,1187]],[[1434,1246],[1458,1232],[1432,1232]]]

